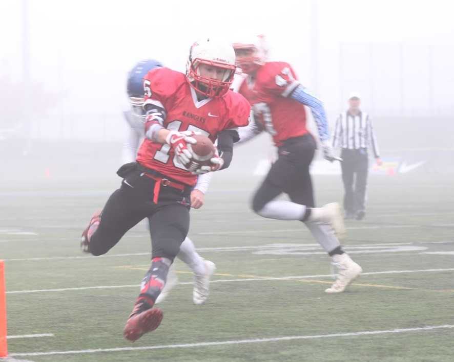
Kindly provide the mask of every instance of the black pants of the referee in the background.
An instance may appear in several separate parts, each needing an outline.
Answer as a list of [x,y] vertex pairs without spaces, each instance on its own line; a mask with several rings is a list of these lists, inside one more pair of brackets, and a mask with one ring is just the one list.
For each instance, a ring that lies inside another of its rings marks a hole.
[[342,181],[344,183],[344,209],[347,214],[365,210],[367,171],[369,160],[367,149],[342,148]]

